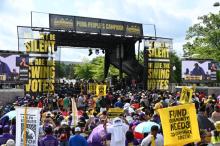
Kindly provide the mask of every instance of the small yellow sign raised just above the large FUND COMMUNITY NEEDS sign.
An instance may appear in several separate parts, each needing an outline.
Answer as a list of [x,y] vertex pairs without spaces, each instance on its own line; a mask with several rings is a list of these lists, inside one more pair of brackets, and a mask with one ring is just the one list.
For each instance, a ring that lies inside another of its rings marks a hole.
[[180,103],[190,103],[192,99],[193,89],[190,89],[186,86],[182,87],[181,95],[180,95]]

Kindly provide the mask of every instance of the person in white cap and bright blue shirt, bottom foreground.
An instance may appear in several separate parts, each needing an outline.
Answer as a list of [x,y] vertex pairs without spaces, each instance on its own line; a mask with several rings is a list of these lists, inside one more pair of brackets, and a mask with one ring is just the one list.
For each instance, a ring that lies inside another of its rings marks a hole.
[[88,146],[86,139],[80,135],[80,127],[76,127],[75,129],[73,128],[72,133],[75,133],[75,135],[69,138],[69,146]]

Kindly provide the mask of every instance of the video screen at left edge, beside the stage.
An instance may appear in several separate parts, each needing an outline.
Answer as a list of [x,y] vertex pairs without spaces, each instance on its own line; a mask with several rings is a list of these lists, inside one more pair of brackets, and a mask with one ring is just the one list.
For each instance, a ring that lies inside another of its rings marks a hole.
[[0,82],[28,81],[28,60],[27,55],[0,54]]

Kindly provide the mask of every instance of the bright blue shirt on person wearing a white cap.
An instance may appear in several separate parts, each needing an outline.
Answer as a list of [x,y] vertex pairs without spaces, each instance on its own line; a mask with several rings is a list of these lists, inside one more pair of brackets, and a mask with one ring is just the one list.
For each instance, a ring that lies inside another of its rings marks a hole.
[[83,136],[77,134],[69,138],[69,146],[88,146],[88,143]]

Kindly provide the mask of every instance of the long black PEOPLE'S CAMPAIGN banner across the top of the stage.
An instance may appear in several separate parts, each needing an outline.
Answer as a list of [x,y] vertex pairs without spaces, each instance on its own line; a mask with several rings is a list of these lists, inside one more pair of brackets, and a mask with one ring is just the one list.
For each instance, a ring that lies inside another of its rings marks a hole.
[[49,23],[50,29],[56,30],[143,36],[143,27],[140,23],[57,14],[49,14]]

